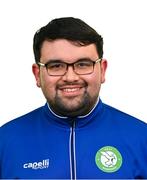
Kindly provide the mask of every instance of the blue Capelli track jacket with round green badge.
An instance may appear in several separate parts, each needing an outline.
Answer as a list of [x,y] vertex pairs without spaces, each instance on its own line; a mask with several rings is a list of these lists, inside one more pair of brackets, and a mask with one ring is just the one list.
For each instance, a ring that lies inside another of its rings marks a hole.
[[1,179],[145,179],[146,123],[99,100],[85,117],[46,104],[0,128]]

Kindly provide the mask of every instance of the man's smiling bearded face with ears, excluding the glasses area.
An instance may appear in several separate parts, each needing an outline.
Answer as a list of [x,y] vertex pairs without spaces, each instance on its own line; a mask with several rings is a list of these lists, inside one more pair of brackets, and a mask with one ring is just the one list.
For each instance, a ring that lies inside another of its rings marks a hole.
[[[65,39],[44,41],[41,48],[41,62],[61,60],[73,63],[88,58],[99,58],[94,44],[79,46]],[[107,61],[94,65],[94,71],[87,75],[77,75],[72,66],[63,76],[49,76],[45,67],[33,64],[37,86],[41,87],[51,109],[58,115],[75,117],[87,114],[95,105],[101,84],[105,81]]]

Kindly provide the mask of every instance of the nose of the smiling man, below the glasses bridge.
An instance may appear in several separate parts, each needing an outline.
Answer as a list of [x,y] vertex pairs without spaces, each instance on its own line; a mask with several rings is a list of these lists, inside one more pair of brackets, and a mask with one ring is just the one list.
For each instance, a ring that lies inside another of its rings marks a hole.
[[67,72],[63,76],[63,80],[68,82],[74,82],[74,81],[78,81],[78,79],[79,79],[79,75],[74,72],[73,67],[68,66]]

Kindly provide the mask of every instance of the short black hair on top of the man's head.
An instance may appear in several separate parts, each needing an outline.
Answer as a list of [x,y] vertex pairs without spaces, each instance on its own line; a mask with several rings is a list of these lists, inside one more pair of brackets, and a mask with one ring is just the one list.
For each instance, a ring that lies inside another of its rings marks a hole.
[[54,19],[40,28],[34,35],[33,50],[36,63],[40,61],[41,46],[45,40],[67,39],[79,45],[94,43],[99,54],[103,56],[103,38],[81,19],[65,17]]

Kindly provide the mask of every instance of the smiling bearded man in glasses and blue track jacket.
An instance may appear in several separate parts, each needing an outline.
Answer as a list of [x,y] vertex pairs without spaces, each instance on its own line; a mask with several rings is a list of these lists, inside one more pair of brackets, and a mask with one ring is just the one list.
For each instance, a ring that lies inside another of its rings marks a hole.
[[80,19],[34,36],[32,70],[47,100],[0,129],[0,178],[147,178],[147,126],[99,98],[103,39]]

